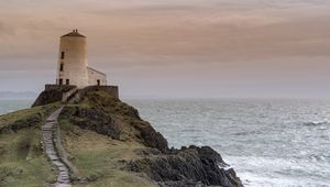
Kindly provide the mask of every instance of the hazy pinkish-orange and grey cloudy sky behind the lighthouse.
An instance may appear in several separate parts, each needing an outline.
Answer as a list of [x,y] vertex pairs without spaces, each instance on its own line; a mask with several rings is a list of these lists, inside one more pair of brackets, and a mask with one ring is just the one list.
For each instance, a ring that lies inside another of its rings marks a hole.
[[55,81],[59,36],[127,98],[329,98],[329,0],[0,0],[0,91]]

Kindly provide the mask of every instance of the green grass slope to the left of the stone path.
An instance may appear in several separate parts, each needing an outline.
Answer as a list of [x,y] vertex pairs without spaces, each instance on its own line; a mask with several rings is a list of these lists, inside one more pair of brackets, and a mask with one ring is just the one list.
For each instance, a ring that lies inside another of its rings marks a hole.
[[43,153],[41,125],[57,106],[0,116],[0,186],[37,187],[55,179]]

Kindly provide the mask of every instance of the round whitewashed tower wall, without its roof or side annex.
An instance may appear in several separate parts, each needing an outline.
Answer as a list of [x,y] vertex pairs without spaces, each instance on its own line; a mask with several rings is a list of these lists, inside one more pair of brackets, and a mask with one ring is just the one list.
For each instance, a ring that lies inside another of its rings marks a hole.
[[[64,58],[62,59],[62,52]],[[63,64],[63,70],[61,70]],[[78,88],[88,86],[87,42],[82,36],[62,36],[59,43],[56,84],[75,85]]]

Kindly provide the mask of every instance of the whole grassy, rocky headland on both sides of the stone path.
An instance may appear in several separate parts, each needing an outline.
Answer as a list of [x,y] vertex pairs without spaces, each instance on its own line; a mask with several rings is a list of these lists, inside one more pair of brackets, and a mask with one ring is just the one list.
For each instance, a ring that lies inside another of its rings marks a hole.
[[[0,186],[55,182],[41,125],[61,103],[40,103],[44,106],[0,117]],[[58,122],[75,166],[73,186],[242,186],[233,169],[219,167],[227,164],[212,148],[168,148],[136,109],[105,90],[88,91],[78,103],[66,106]]]

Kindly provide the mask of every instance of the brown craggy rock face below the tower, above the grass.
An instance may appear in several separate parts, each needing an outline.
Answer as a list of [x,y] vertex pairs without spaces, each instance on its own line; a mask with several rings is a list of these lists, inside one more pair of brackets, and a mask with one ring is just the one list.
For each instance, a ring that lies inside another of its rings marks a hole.
[[[72,124],[109,135],[114,140],[133,139],[148,147],[163,152],[168,150],[164,136],[156,132],[150,123],[143,121],[136,109],[117,98],[100,99],[97,95],[87,95],[87,97],[89,102],[98,106],[92,105],[91,108],[82,105],[66,107],[61,118],[69,119]],[[106,106],[103,106],[105,103]]]

